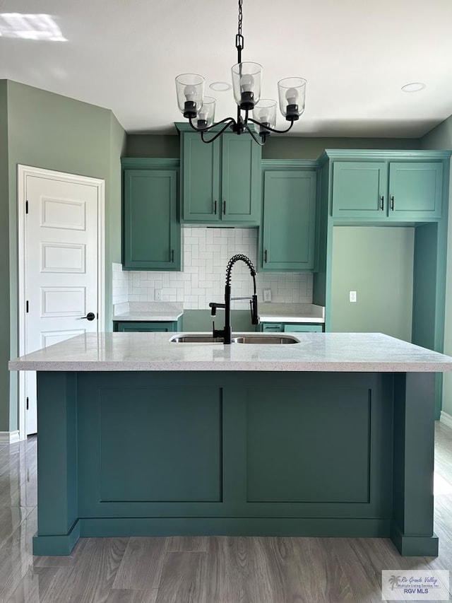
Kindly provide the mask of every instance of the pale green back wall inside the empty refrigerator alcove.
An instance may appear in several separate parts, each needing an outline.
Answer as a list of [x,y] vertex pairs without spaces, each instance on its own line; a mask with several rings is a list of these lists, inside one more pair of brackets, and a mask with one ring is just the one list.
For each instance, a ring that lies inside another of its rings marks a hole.
[[335,226],[332,330],[411,341],[413,256],[414,228]]

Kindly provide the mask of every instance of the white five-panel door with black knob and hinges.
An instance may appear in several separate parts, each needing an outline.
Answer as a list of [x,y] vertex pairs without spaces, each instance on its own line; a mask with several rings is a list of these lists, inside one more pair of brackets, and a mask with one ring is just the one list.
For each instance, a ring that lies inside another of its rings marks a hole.
[[[99,330],[98,181],[60,177],[25,176],[23,353]],[[35,373],[23,382],[29,435],[37,431]]]

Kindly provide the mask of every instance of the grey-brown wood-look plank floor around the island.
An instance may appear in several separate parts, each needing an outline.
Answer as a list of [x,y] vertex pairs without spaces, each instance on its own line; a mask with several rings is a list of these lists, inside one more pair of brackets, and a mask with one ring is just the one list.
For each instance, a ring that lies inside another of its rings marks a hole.
[[382,569],[452,570],[452,430],[436,426],[439,557],[400,557],[386,539],[89,538],[33,557],[36,448],[0,447],[1,603],[381,602]]

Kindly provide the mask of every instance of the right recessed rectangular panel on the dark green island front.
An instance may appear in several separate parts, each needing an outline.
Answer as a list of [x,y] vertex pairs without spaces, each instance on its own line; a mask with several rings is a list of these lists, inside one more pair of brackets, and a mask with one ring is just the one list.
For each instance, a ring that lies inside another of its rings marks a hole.
[[249,502],[369,503],[371,390],[256,387],[247,401]]

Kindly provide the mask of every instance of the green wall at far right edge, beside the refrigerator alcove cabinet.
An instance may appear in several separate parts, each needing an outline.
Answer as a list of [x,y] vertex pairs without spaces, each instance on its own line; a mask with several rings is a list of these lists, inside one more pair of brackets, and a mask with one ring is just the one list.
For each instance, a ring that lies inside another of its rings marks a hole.
[[[421,140],[422,148],[452,149],[452,115]],[[449,205],[452,203],[452,180]],[[446,276],[446,319],[444,322],[444,353],[452,356],[452,211],[448,213],[448,245]],[[452,416],[452,373],[443,377],[443,411]]]

